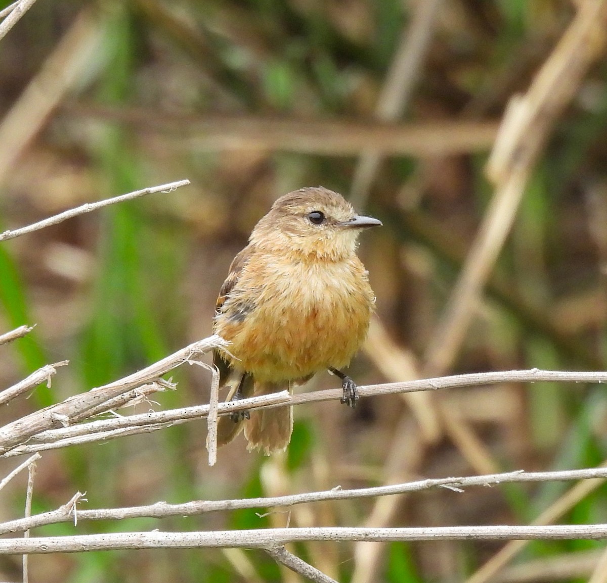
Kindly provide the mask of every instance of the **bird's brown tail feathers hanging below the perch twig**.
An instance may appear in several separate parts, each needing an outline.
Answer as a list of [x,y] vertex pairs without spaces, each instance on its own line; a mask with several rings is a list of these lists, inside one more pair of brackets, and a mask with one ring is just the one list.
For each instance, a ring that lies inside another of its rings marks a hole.
[[[284,388],[283,384],[255,381],[253,395],[246,396],[268,395]],[[228,395],[228,401],[229,399],[231,395]],[[221,416],[217,425],[217,445],[228,444],[244,428],[248,441],[246,448],[249,451],[263,451],[267,456],[287,448],[293,431],[293,407],[253,410],[249,415],[249,419],[239,419],[236,422],[229,416]]]

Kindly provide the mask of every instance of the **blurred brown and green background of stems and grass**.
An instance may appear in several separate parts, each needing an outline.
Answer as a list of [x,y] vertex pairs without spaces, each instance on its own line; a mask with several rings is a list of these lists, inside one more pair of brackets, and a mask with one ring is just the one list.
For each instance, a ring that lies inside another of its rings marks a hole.
[[[0,331],[36,324],[27,338],[0,347],[2,387],[70,360],[50,390],[12,402],[2,419],[208,336],[232,257],[278,196],[306,185],[337,190],[384,221],[364,234],[360,250],[378,319],[350,367],[359,384],[512,368],[604,369],[602,56],[571,88],[565,110],[548,119],[550,139],[481,301],[466,306],[470,325],[443,355],[445,365],[433,361],[443,347],[441,318],[494,193],[484,167],[506,104],[534,82],[584,4],[36,2],[0,41],[0,230],[146,186],[182,178],[192,185],[0,244]],[[173,379],[177,391],[137,412],[207,401],[207,372],[182,367]],[[328,375],[308,385],[336,386]],[[285,456],[246,453],[239,439],[220,450],[213,468],[205,422],[44,453],[34,509],[55,508],[76,490],[87,491],[86,506],[96,508],[588,467],[607,457],[600,385],[381,396],[363,399],[356,411],[337,402],[304,405],[295,417]],[[2,460],[2,475],[15,465]],[[1,518],[22,515],[26,479],[2,492]],[[528,524],[565,488],[439,489],[263,518],[238,511],[82,522],[37,534],[287,521]],[[604,495],[599,488],[581,498],[561,521],[605,522]],[[339,581],[451,582],[465,581],[502,545],[325,542],[294,550]],[[522,567],[495,580],[577,581],[592,572],[600,549],[575,541],[527,545],[517,557]],[[572,570],[562,566],[573,559]],[[253,551],[33,556],[30,565],[30,580],[48,583],[299,580]],[[20,558],[0,559],[3,581],[19,573]]]

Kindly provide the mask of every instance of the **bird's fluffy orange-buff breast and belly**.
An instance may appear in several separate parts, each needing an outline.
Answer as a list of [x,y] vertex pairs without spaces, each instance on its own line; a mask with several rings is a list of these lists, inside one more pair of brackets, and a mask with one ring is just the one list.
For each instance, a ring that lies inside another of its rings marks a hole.
[[286,381],[347,365],[364,340],[373,307],[365,274],[354,275],[312,272],[303,285],[279,279],[245,317],[218,318],[217,333],[231,342],[232,366],[260,381]]

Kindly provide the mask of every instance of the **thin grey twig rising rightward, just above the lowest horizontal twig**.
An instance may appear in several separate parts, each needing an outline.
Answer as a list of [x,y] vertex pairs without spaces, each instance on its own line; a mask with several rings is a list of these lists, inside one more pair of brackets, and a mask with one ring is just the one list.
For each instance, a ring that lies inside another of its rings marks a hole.
[[[243,510],[252,508],[287,508],[297,504],[310,504],[312,502],[325,502],[337,500],[352,500],[362,498],[376,498],[378,496],[394,496],[404,493],[420,492],[432,488],[448,488],[453,491],[462,491],[468,487],[489,487],[499,484],[529,483],[529,482],[556,482],[605,479],[607,468],[583,468],[581,470],[562,471],[510,471],[507,473],[490,474],[485,476],[464,476],[459,478],[435,478],[405,482],[404,484],[391,484],[372,488],[353,488],[342,490],[339,487],[332,490],[317,492],[304,492],[288,496],[273,496],[270,498],[244,498],[232,500],[195,500],[182,504],[168,504],[156,502],[144,506],[123,508],[93,508],[78,511],[78,519],[82,520],[124,520],[129,518],[168,518],[171,516],[195,516],[206,512],[219,512],[226,510]],[[581,482],[583,484],[587,482]],[[70,503],[57,510],[51,510],[30,519],[15,519],[0,523],[0,535],[22,532],[27,528],[37,528],[58,522],[69,522]]]

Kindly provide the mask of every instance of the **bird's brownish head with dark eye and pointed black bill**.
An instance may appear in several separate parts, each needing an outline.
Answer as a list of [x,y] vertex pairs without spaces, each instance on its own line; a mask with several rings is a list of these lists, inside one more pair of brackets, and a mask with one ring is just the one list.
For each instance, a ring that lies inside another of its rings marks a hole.
[[358,215],[336,192],[300,188],[274,202],[251,233],[251,242],[268,251],[338,261],[354,253],[362,229],[376,225],[381,221]]

